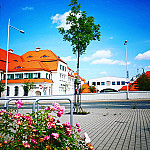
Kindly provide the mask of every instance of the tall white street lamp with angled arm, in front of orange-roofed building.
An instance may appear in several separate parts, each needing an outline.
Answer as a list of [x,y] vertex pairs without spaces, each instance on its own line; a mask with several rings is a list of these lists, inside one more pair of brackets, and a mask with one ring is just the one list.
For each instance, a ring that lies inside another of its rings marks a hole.
[[7,74],[8,74],[8,48],[9,48],[9,27],[15,29],[15,30],[18,30],[20,33],[23,33],[24,34],[24,31],[23,30],[19,30],[13,26],[10,25],[10,18],[8,20],[8,37],[7,37],[7,58],[6,58],[6,78],[5,78],[5,98],[7,98]]

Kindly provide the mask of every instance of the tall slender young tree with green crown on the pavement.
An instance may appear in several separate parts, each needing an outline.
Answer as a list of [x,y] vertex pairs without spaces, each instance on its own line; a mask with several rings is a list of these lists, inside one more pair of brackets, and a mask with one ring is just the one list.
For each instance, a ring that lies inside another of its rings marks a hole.
[[[70,29],[58,28],[64,41],[71,42],[73,54],[77,54],[77,95],[79,95],[79,57],[85,53],[87,46],[93,40],[100,41],[100,25],[95,25],[94,17],[87,17],[86,11],[81,11],[81,4],[71,0],[71,12],[67,16],[66,24]],[[77,98],[78,99],[78,98]]]

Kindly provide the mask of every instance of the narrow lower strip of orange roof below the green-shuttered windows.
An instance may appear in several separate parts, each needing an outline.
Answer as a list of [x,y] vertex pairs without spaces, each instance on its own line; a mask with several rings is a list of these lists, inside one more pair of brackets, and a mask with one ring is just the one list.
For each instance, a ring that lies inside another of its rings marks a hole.
[[[48,82],[53,83],[52,80],[49,79],[14,79],[14,80],[7,80],[8,83],[25,83],[25,82],[33,82],[33,83],[39,83],[39,82]],[[5,83],[5,80],[1,80],[1,83]]]

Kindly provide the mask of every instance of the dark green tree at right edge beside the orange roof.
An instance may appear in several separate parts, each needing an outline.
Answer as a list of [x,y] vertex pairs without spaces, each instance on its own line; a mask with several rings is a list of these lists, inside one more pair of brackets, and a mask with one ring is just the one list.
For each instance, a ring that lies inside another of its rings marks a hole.
[[137,86],[139,91],[150,91],[150,79],[143,74],[137,79]]

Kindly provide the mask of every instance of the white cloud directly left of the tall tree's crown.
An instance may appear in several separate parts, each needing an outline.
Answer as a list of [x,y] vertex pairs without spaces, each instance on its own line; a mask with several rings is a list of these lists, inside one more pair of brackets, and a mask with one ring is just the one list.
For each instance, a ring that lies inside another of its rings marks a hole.
[[65,30],[70,29],[70,25],[66,25],[66,18],[69,15],[70,11],[65,12],[63,15],[61,14],[56,14],[55,16],[52,16],[51,19],[53,20],[52,23],[56,23],[57,27],[56,28],[60,28],[60,27],[64,27]]

